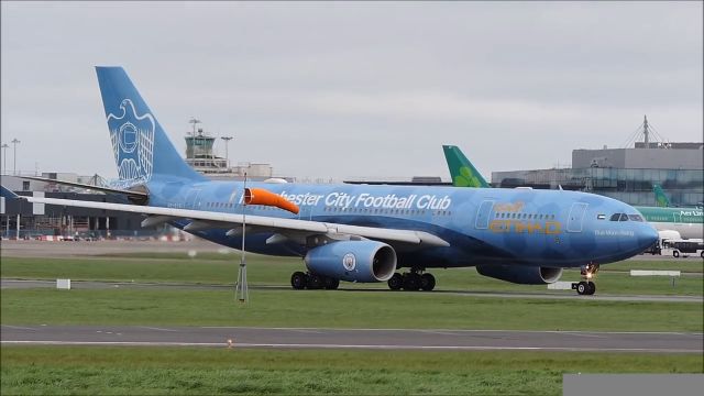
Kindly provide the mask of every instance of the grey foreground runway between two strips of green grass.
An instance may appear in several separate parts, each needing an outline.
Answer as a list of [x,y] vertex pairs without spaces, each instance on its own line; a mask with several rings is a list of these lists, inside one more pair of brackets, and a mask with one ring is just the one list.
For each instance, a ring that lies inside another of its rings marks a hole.
[[679,332],[9,324],[2,324],[1,328],[3,345],[658,353],[703,353],[704,351],[702,333]]

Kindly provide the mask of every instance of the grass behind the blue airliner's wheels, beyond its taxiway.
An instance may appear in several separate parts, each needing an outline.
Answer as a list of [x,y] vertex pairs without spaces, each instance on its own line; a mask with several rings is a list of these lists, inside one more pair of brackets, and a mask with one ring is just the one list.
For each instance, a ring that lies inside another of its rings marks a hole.
[[[118,257],[72,257],[72,258],[19,258],[2,257],[2,277],[74,280],[124,280],[124,282],[174,282],[198,284],[233,284],[237,279],[237,256],[233,254],[209,253],[190,258],[185,254],[139,254]],[[300,258],[282,258],[252,255],[249,261],[248,277],[252,285],[288,285],[294,271],[304,271]],[[702,261],[628,261],[603,266],[597,282],[597,294],[613,295],[690,295],[701,296],[704,289]],[[630,268],[679,270],[700,275],[670,277],[631,277]],[[481,276],[474,268],[436,270],[438,290],[473,292],[544,292],[544,285],[514,285]],[[565,271],[562,279],[579,280],[578,271]],[[386,289],[386,284],[342,283],[343,288]],[[565,292],[572,293],[572,292]]]

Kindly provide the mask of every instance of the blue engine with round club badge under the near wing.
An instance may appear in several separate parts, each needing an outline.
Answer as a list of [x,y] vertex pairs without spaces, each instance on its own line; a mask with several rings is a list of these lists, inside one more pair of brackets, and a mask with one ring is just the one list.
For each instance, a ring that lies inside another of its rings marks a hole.
[[312,273],[348,282],[386,282],[396,271],[396,252],[376,241],[338,241],[306,254]]

